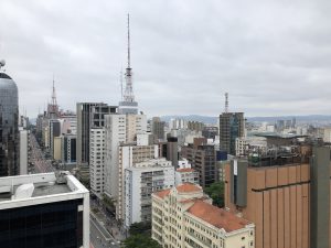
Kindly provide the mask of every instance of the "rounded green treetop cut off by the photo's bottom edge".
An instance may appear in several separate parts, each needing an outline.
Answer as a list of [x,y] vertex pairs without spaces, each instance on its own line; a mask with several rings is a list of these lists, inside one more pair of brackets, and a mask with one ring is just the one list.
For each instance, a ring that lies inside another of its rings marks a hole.
[[149,235],[137,234],[131,235],[126,240],[124,240],[122,248],[161,248],[161,246]]

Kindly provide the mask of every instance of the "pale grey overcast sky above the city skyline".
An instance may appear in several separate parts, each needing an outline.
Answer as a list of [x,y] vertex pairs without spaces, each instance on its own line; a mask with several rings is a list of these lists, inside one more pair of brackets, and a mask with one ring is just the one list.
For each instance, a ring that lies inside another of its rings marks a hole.
[[134,90],[148,116],[331,110],[331,1],[0,0],[0,58],[33,117],[120,100],[131,25]]

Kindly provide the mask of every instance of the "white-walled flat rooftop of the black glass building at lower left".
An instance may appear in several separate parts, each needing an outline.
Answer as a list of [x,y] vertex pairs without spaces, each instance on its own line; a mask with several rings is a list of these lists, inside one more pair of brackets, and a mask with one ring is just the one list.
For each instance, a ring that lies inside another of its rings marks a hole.
[[0,205],[4,202],[88,191],[70,172],[0,177]]

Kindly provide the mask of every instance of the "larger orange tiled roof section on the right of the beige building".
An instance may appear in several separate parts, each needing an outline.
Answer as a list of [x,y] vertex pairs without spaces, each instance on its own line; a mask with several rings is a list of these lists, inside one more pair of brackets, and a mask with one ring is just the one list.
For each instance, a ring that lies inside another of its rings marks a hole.
[[246,225],[250,224],[244,218],[241,218],[223,208],[218,208],[201,200],[196,200],[188,209],[188,213],[220,229],[223,228],[226,233],[245,228]]

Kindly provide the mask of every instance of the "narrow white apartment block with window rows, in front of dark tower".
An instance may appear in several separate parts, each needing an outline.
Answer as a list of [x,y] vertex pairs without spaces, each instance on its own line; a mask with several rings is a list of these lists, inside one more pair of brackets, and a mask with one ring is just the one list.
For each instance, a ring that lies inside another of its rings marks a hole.
[[89,183],[90,191],[102,198],[105,186],[105,129],[89,130]]

